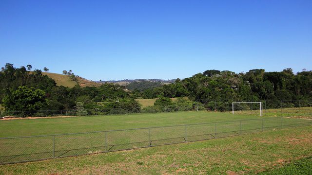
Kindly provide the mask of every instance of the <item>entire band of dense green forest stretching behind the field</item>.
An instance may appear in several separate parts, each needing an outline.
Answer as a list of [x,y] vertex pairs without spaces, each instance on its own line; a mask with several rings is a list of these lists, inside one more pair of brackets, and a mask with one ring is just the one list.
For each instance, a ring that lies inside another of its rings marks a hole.
[[[224,103],[233,101],[267,100],[271,101],[271,107],[277,107],[280,101],[294,106],[295,100],[305,100],[305,105],[312,105],[309,101],[312,100],[312,71],[293,73],[290,68],[280,72],[257,69],[246,73],[206,70],[168,85],[134,83],[132,91],[112,83],[100,87],[59,87],[53,79],[42,75],[41,70],[31,69],[31,65],[15,68],[12,64],[1,69],[0,102],[5,110],[81,109],[83,112],[123,108],[125,112],[137,112],[141,110],[135,101],[137,98],[159,98],[155,106],[144,109],[147,112],[170,111],[179,106],[189,109],[196,102],[217,110],[224,110]],[[168,100],[171,97],[188,97],[189,100],[181,98],[172,102]]]

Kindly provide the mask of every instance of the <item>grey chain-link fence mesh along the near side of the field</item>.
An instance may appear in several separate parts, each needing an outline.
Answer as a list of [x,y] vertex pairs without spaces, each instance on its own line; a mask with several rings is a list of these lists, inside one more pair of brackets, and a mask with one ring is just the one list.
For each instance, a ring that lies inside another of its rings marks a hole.
[[88,133],[0,138],[0,164],[209,140],[312,125],[312,119],[271,117]]

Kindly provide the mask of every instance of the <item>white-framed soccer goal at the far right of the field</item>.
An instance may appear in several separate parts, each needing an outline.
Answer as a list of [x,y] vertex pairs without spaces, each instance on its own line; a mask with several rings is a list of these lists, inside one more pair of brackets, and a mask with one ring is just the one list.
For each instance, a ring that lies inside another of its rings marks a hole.
[[232,102],[232,113],[234,111],[239,114],[254,114],[262,116],[261,102]]

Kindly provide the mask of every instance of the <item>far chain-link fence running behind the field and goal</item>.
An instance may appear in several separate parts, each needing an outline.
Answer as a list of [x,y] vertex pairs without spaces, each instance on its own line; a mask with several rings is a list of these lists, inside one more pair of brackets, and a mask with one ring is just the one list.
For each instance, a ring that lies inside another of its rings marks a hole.
[[[132,113],[157,113],[157,112],[179,112],[179,111],[199,111],[209,110],[216,112],[232,112],[232,102],[213,101],[207,99],[197,99],[200,105],[176,106],[138,109],[138,108],[93,108],[93,109],[64,109],[64,110],[20,110],[20,111],[0,111],[0,117],[57,117],[57,116],[95,116],[111,114],[132,114]],[[240,102],[262,102],[262,114],[264,116],[295,116],[305,117],[312,113],[312,100],[244,100]],[[235,104],[234,110],[241,111],[240,114],[258,115],[259,104]]]

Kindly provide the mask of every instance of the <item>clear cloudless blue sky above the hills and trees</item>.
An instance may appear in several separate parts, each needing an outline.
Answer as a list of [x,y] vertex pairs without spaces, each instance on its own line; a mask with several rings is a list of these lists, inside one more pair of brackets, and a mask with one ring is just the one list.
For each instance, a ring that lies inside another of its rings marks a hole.
[[312,0],[0,0],[0,64],[90,80],[312,70]]

